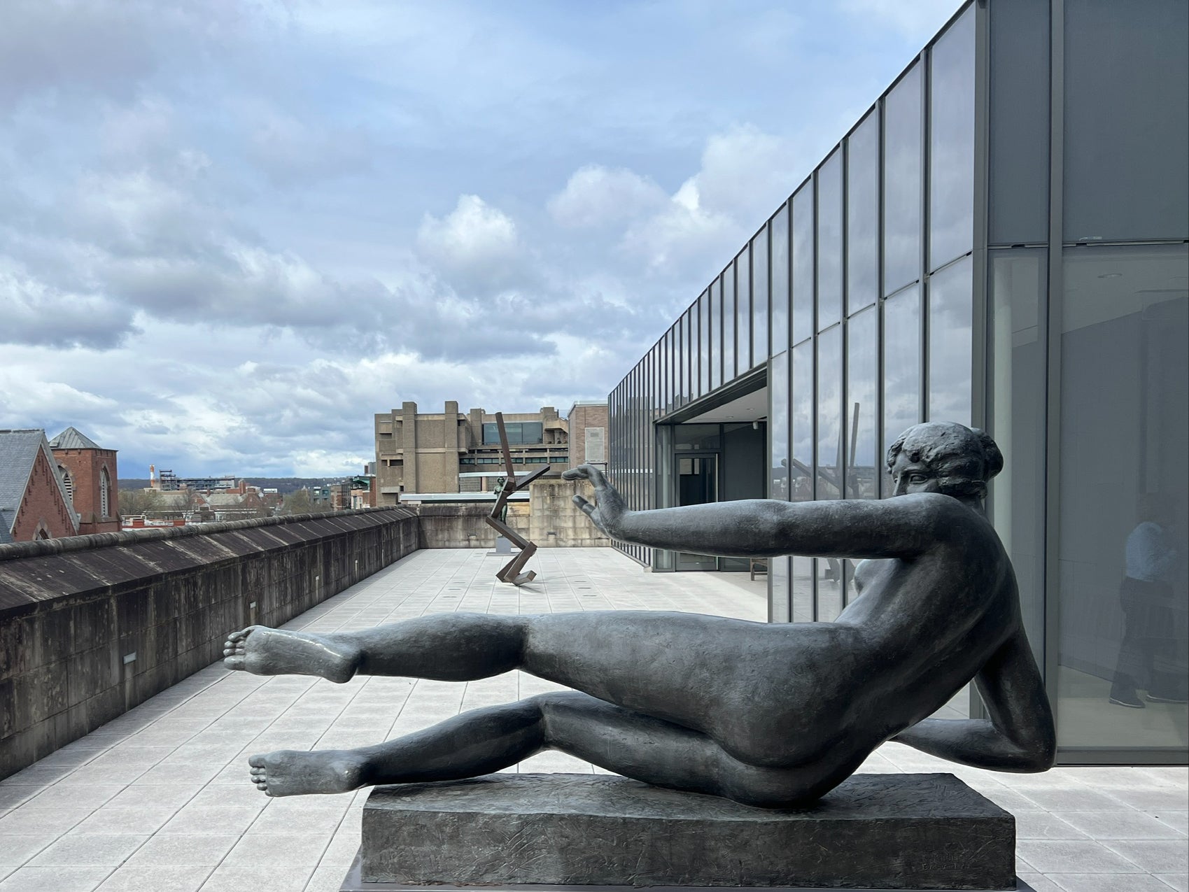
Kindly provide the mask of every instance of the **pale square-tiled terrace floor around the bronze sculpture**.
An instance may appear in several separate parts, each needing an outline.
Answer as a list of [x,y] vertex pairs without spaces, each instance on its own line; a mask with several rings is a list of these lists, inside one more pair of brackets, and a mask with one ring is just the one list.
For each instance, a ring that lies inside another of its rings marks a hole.
[[[537,552],[539,578],[516,589],[495,582],[501,565],[479,551],[415,552],[287,628],[363,629],[454,610],[767,615],[765,583],[743,573],[647,573],[610,549],[556,548]],[[215,664],[0,781],[0,892],[334,892],[358,850],[369,791],[270,799],[249,783],[249,755],[378,743],[555,689],[521,672],[335,685]],[[1189,892],[1181,854],[1189,769],[1001,774],[895,743],[861,769],[949,772],[1013,812],[1020,875],[1037,892]],[[554,752],[508,771],[606,773]]]

